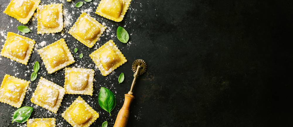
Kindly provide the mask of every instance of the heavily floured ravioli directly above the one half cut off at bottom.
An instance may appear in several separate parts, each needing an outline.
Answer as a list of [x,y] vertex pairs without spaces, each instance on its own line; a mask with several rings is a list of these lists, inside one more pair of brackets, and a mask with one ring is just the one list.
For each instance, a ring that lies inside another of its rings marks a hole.
[[41,77],[30,101],[49,111],[57,113],[64,94],[65,89],[63,87]]

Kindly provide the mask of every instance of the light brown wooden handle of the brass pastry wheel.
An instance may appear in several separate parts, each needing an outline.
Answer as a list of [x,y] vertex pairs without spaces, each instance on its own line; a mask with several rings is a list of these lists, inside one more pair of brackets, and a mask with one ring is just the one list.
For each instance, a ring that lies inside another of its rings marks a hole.
[[133,99],[134,96],[125,94],[124,104],[118,112],[114,127],[126,127],[129,118],[129,106]]

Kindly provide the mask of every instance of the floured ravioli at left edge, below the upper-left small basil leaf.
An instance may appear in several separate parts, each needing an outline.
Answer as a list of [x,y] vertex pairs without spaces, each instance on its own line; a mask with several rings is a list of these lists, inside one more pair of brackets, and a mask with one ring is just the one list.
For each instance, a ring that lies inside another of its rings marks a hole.
[[28,64],[35,41],[22,35],[8,32],[1,55],[24,65]]

